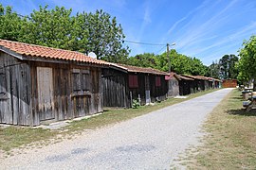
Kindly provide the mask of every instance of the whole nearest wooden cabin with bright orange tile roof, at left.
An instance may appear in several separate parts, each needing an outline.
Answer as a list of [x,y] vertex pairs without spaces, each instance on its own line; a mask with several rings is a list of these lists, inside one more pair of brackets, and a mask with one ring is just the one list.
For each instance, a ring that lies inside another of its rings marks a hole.
[[107,65],[79,52],[0,40],[0,123],[38,126],[102,111]]

